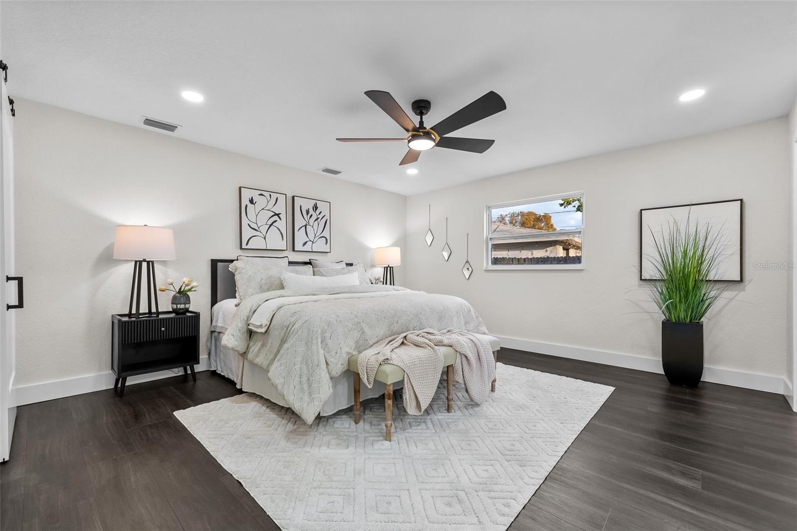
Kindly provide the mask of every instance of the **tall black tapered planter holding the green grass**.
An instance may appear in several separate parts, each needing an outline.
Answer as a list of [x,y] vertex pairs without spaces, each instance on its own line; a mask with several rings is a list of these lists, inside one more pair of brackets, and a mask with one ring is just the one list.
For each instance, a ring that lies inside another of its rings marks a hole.
[[662,367],[673,385],[697,387],[703,376],[703,323],[662,321]]

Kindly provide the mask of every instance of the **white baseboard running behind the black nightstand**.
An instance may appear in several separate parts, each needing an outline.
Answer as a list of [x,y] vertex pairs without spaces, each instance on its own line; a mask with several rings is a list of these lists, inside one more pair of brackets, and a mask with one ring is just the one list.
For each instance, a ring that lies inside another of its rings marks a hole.
[[[195,365],[194,370],[200,372],[207,369],[209,369],[207,357],[200,357],[199,365]],[[178,376],[180,374],[183,374],[183,369],[139,374],[139,376],[129,377],[128,385],[137,384],[142,381]],[[81,395],[84,392],[110,389],[113,387],[115,379],[116,377],[114,377],[113,373],[108,371],[108,373],[90,374],[88,376],[67,378],[65,380],[45,381],[41,384],[23,385],[22,387],[17,387],[12,390],[12,405],[22,406],[25,404],[44,402],[45,400],[64,398],[65,396]]]

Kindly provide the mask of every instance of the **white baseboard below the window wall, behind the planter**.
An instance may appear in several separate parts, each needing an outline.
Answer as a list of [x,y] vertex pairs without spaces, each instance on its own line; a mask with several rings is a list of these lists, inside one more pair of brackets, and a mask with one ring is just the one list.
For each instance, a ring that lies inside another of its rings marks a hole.
[[[662,360],[653,357],[640,357],[631,354],[620,354],[606,352],[604,350],[583,349],[578,346],[556,345],[556,343],[543,343],[531,341],[530,339],[506,338],[496,336],[501,340],[501,346],[509,349],[526,350],[540,354],[549,354],[556,357],[567,357],[572,360],[592,361],[602,365],[614,365],[623,369],[635,369],[646,371],[647,373],[663,374]],[[705,367],[703,369],[702,381],[709,381],[713,384],[733,385],[756,391],[776,392],[786,394],[787,388],[785,379],[765,374],[743,373],[732,369],[719,369],[717,367]],[[788,387],[791,389],[791,386]],[[788,398],[788,396],[787,396]]]

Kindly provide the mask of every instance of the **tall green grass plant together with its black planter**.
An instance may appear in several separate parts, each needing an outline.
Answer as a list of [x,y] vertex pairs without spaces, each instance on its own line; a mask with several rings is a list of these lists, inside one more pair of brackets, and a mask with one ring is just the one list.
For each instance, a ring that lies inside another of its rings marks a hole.
[[650,294],[662,312],[662,369],[669,383],[697,387],[703,376],[703,319],[727,284],[717,283],[724,259],[722,228],[673,220],[654,240]]

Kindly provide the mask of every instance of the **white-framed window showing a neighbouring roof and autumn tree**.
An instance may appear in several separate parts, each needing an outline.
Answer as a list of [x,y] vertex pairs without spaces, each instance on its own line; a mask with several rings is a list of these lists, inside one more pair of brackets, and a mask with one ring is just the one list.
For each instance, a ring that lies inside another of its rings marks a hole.
[[487,205],[485,269],[583,269],[584,193]]

